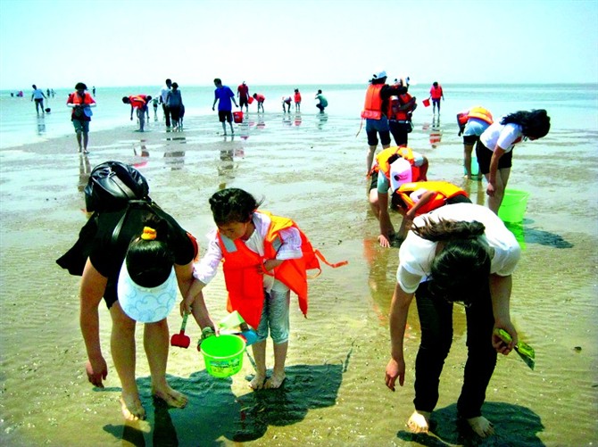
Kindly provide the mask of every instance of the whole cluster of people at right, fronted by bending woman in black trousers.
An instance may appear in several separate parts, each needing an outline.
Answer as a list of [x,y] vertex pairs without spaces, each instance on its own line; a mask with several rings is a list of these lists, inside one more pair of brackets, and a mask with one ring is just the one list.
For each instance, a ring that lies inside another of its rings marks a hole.
[[[413,297],[421,322],[421,342],[415,361],[415,410],[408,426],[413,433],[427,433],[438,401],[439,379],[453,341],[453,303],[465,306],[468,359],[461,396],[460,418],[478,435],[494,433],[481,414],[486,387],[494,372],[497,352],[508,354],[518,342],[511,322],[512,272],[519,244],[498,218],[511,172],[512,149],[520,141],[536,140],[550,130],[545,110],[519,111],[494,122],[483,107],[458,114],[464,145],[464,165],[471,179],[471,152],[476,154],[487,180],[488,206],[471,203],[459,186],[438,179],[428,181],[428,160],[404,143],[390,145],[397,108],[412,112],[414,104],[401,101],[408,82],[386,84],[386,71],[375,73],[366,92],[361,118],[366,120],[368,151],[366,172],[370,205],[378,218],[381,246],[400,245],[395,293],[390,305],[391,357],[386,366],[386,386],[403,386],[405,360],[403,337]],[[434,82],[430,97],[440,112],[442,87]],[[411,98],[414,99],[414,98]],[[394,135],[394,134],[393,134]],[[382,151],[376,155],[378,136]],[[396,138],[395,138],[396,140]],[[390,195],[390,198],[389,198]],[[403,215],[398,233],[390,222],[388,207]],[[506,343],[498,331],[506,331]]]

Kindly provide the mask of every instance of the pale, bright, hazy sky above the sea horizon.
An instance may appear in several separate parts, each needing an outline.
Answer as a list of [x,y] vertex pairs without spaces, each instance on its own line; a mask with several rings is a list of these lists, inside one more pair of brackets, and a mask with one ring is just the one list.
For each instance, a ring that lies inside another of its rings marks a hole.
[[598,82],[598,0],[0,0],[0,89]]

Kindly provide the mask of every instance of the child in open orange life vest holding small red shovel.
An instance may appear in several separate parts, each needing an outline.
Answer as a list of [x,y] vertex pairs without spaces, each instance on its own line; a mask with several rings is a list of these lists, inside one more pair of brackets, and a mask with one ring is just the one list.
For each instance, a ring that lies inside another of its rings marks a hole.
[[[260,204],[253,195],[237,188],[212,195],[210,206],[218,229],[209,235],[208,250],[195,264],[196,281],[180,305],[182,314],[193,310],[196,299],[201,302],[203,287],[224,260],[228,311],[237,310],[258,335],[252,345],[256,374],[249,384],[254,390],[278,388],[285,380],[290,291],[298,294],[303,313],[307,312],[305,269],[309,266],[303,259],[302,244],[310,245],[292,220],[257,211]],[[311,246],[309,249],[313,250]],[[266,379],[269,331],[274,368]]]

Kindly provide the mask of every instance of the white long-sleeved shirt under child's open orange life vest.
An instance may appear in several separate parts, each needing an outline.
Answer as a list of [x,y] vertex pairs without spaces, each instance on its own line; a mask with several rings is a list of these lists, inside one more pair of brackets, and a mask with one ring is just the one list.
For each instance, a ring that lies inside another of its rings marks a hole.
[[[259,211],[254,212],[253,225],[255,225],[255,230],[249,239],[243,241],[249,250],[258,253],[261,256],[264,254],[263,241],[268,235],[270,222],[271,219],[265,214],[262,214]],[[298,259],[303,256],[303,252],[301,251],[301,235],[297,228],[283,229],[280,231],[279,235],[282,240],[282,245],[280,245],[280,248],[276,253],[277,260]],[[199,279],[203,284],[208,284],[212,278],[216,276],[218,266],[223,257],[220,244],[218,243],[218,230],[213,229],[208,234],[208,239],[210,241],[208,243],[208,251],[203,255],[203,258],[199,262],[195,263],[193,271],[193,276]],[[275,278],[270,275],[263,276],[263,283],[267,292],[270,292],[273,286],[275,290],[281,292],[286,292],[288,290],[287,286],[283,285],[280,281],[275,280]]]

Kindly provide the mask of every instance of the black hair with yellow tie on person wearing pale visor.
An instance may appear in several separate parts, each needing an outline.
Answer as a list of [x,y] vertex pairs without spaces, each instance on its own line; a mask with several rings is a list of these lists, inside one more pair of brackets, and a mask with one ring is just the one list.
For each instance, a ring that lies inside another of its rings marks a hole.
[[137,236],[129,244],[126,262],[131,279],[139,286],[160,286],[170,276],[174,253],[170,250],[168,222],[155,214],[146,214],[144,228],[155,230],[155,238]]

